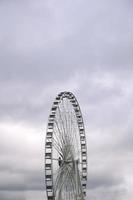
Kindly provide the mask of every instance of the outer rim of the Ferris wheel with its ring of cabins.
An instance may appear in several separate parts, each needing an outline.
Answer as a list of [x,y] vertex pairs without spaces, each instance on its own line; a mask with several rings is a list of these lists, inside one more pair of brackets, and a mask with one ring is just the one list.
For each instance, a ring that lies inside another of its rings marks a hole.
[[[81,189],[83,191],[83,196],[85,198],[86,194],[86,183],[87,183],[87,145],[86,145],[86,137],[85,137],[85,129],[84,129],[84,122],[82,113],[78,104],[78,101],[76,97],[71,92],[61,92],[59,93],[55,101],[53,102],[49,119],[48,119],[48,126],[47,126],[47,132],[46,132],[46,142],[45,142],[45,183],[46,183],[46,193],[48,200],[55,200],[55,191],[54,191],[54,182],[53,182],[53,160],[57,160],[59,162],[59,158],[53,158],[53,126],[55,124],[55,115],[57,112],[57,108],[60,104],[60,101],[66,98],[70,101],[72,108],[75,112],[76,120],[77,120],[77,126],[79,130],[79,140],[80,140],[80,149],[81,149],[81,163],[78,162],[77,159],[69,160],[63,160],[62,162],[66,162],[71,164],[73,162],[73,166],[76,166],[74,163],[78,163],[81,165],[81,175],[80,177],[80,183],[81,183]],[[78,168],[77,168],[78,170]],[[61,186],[60,186],[61,187]],[[82,199],[84,199],[82,198]]]

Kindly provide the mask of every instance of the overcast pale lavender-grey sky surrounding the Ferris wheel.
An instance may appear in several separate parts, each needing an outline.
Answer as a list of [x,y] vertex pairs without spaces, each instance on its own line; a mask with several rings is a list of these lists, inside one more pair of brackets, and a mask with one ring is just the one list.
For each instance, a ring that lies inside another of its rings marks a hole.
[[0,200],[45,200],[53,99],[83,113],[89,200],[133,199],[133,2],[0,0]]

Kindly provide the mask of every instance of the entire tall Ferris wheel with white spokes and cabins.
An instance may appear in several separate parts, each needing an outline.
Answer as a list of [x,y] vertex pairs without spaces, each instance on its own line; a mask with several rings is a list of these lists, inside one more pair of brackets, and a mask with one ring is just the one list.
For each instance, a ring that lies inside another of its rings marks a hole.
[[48,200],[85,200],[87,146],[79,104],[71,92],[53,102],[45,140]]

